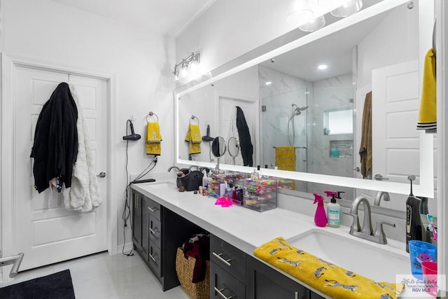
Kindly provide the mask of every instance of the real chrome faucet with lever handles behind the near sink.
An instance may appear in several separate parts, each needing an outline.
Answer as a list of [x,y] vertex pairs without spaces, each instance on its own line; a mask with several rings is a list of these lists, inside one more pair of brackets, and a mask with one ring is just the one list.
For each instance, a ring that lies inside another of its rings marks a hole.
[[[358,208],[359,204],[363,204],[364,206],[364,218],[363,218],[363,226],[360,228],[359,216],[358,216]],[[395,228],[395,223],[386,222],[386,221],[377,221],[377,226],[375,230],[372,228],[372,213],[370,211],[370,203],[367,198],[363,196],[356,197],[353,200],[353,204],[351,204],[350,213],[348,214],[353,217],[353,223],[351,223],[350,227],[350,235],[355,237],[360,237],[361,239],[366,239],[368,241],[372,241],[379,244],[387,244],[386,234],[384,233],[383,224],[391,225]]]

